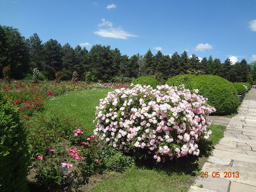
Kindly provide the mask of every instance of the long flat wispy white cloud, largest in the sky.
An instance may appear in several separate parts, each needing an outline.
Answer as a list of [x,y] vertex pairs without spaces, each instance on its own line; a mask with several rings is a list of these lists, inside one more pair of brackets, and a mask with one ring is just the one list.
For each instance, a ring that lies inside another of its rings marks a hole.
[[99,29],[99,31],[94,31],[93,33],[101,37],[111,37],[116,39],[127,39],[127,37],[138,37],[137,35],[128,33],[124,31],[121,27],[110,28],[110,29]]

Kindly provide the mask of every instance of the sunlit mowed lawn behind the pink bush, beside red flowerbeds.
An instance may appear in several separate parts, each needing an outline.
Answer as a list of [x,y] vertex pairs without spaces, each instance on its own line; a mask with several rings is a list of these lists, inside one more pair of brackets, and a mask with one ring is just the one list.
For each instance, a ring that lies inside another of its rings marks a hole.
[[105,98],[109,91],[114,90],[87,89],[59,95],[47,101],[45,113],[50,113],[53,110],[59,114],[68,115],[93,131],[95,107],[99,105],[99,99]]

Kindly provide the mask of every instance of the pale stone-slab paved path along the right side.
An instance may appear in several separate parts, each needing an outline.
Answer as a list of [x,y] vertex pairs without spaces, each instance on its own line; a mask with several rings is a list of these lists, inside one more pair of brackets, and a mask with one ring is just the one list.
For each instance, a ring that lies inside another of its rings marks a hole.
[[[208,172],[208,177],[199,176],[189,192],[256,192],[255,89],[246,94],[238,114],[229,121],[224,138],[215,146],[202,172]],[[216,172],[219,178],[213,177]],[[201,184],[203,188],[197,187]]]

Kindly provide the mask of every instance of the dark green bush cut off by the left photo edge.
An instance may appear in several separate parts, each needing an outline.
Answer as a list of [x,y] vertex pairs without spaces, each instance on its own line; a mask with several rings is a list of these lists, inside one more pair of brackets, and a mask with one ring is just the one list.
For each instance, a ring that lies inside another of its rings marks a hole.
[[0,191],[27,191],[29,155],[19,111],[0,91]]

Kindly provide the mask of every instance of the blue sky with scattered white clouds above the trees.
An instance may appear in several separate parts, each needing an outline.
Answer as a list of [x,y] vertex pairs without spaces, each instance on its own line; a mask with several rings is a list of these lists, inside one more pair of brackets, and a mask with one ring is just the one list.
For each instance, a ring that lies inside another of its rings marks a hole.
[[0,0],[0,25],[73,48],[256,60],[255,0]]

